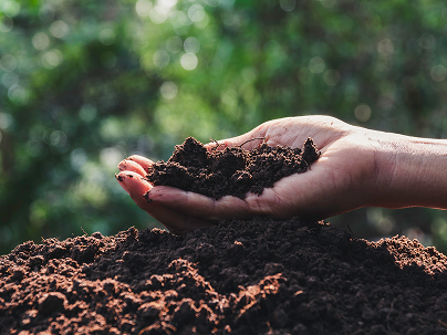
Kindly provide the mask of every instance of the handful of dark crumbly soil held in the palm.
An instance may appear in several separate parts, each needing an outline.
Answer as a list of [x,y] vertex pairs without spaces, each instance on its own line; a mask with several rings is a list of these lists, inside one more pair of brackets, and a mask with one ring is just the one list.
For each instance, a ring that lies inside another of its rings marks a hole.
[[146,180],[215,199],[228,195],[243,199],[248,191],[261,195],[281,178],[305,172],[320,155],[312,138],[302,149],[262,144],[252,150],[240,146],[218,150],[218,145],[207,150],[188,137],[167,163],[160,160],[148,168]]

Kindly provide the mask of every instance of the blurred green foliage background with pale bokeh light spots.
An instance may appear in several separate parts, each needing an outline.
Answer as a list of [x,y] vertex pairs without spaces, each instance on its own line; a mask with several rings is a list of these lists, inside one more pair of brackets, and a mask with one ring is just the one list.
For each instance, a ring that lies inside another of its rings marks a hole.
[[[0,253],[159,227],[115,181],[283,116],[447,137],[445,0],[1,0]],[[362,209],[357,238],[447,251],[447,213]]]

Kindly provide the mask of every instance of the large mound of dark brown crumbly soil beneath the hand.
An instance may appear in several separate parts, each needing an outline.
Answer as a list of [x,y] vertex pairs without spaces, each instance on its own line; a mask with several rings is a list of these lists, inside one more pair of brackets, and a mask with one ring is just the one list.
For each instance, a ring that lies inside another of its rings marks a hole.
[[49,239],[0,258],[0,334],[447,334],[446,268],[298,219]]

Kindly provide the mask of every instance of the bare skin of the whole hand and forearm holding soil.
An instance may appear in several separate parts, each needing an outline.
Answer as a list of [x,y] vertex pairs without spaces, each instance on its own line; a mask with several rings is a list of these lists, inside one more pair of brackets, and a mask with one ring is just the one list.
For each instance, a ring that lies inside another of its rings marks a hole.
[[[219,148],[256,137],[266,138],[270,146],[292,148],[312,137],[322,155],[305,174],[279,180],[261,196],[249,192],[243,200],[231,196],[215,200],[173,187],[153,187],[143,177],[154,163],[142,156],[119,163],[117,180],[138,207],[176,234],[222,219],[254,216],[319,220],[373,206],[447,209],[446,140],[370,130],[329,116],[300,116],[270,121],[219,140]],[[260,143],[248,142],[243,147]],[[146,193],[149,201],[143,197]]]

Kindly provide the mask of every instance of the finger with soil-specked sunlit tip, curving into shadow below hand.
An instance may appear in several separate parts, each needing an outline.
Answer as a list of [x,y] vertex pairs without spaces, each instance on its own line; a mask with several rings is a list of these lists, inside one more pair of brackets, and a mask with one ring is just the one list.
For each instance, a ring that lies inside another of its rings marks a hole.
[[216,222],[211,220],[204,220],[201,218],[179,213],[160,203],[148,200],[146,195],[153,189],[153,186],[135,172],[119,172],[117,179],[119,185],[129,193],[131,198],[141,209],[162,222],[175,234],[185,234],[200,227],[216,224]]

